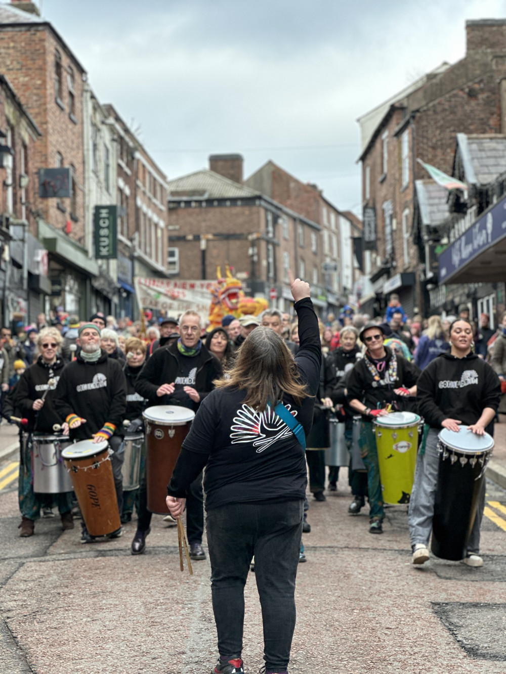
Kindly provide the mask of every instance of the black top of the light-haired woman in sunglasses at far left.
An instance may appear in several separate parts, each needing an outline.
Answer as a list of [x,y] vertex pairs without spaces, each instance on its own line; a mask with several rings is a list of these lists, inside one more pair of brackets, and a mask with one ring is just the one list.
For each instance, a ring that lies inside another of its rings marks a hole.
[[[64,367],[65,363],[61,358],[57,358],[53,365],[47,365],[43,357],[39,356],[37,362],[30,365],[21,375],[13,396],[13,403],[20,415],[28,419],[28,431],[53,433],[53,425],[61,424],[61,419],[55,409],[54,398],[55,389]],[[49,379],[55,379],[51,388],[48,386]],[[44,406],[38,412],[34,411],[34,401],[42,398],[48,388]]]

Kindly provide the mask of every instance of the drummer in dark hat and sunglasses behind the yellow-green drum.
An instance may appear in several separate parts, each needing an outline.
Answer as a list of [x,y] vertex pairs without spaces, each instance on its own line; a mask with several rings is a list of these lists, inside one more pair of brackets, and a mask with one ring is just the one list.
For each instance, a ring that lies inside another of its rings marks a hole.
[[372,421],[388,414],[388,404],[394,409],[405,408],[405,399],[416,396],[416,380],[420,375],[420,369],[414,363],[408,363],[383,345],[385,336],[385,328],[381,325],[368,323],[363,328],[360,340],[366,352],[350,373],[347,387],[349,406],[362,415],[360,446],[367,468],[371,534],[383,533],[385,517]]

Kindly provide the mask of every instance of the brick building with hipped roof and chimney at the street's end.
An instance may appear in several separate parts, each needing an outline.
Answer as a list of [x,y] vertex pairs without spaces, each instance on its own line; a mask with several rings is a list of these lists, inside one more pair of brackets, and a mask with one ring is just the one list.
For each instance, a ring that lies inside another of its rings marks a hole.
[[[169,273],[174,278],[213,280],[217,266],[223,272],[229,264],[246,293],[269,297],[274,288],[275,305],[288,309],[288,270],[310,282],[318,277],[320,226],[231,180],[230,175],[242,176],[242,157],[215,155],[211,165],[226,176],[198,171],[168,183]],[[313,297],[320,311],[327,308],[321,293]]]

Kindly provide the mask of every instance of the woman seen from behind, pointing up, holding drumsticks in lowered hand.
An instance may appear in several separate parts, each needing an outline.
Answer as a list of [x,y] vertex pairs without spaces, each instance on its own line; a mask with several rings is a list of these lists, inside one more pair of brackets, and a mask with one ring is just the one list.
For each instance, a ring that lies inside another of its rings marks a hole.
[[[167,489],[167,505],[177,518],[188,486],[206,466],[206,532],[220,656],[215,674],[244,673],[244,585],[253,555],[265,672],[287,673],[307,485],[304,433],[312,423],[321,362],[309,285],[293,280],[291,293],[300,336],[295,359],[274,330],[253,330],[229,378],[219,380],[202,401]],[[273,409],[280,399],[277,410],[288,425]],[[302,425],[302,434],[296,425]]]

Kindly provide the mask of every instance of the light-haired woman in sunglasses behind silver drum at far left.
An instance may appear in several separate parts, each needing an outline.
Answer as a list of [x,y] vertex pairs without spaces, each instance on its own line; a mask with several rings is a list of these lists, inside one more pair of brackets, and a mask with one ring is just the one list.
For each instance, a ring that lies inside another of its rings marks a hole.
[[[58,353],[62,342],[61,334],[56,328],[40,330],[36,340],[40,355],[36,362],[24,371],[16,386],[14,406],[21,417],[28,419],[26,426],[28,437],[33,433],[55,435],[53,425],[60,423],[60,417],[53,406],[53,396],[65,365]],[[63,433],[68,435],[68,432],[68,425],[63,424]],[[40,508],[52,508],[53,505],[58,506],[61,528],[73,529],[72,491],[54,495],[34,493],[30,448],[31,443],[28,442],[21,448],[19,502],[22,521],[18,527],[21,529],[20,536],[22,538],[32,536],[35,520],[40,517]]]

